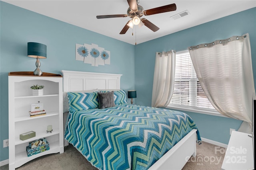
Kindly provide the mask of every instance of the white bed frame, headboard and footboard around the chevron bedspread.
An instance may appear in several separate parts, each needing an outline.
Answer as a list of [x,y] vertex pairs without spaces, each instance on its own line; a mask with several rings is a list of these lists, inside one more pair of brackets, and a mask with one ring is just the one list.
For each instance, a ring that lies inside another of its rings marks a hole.
[[[62,70],[63,91],[120,89],[122,74]],[[196,129],[181,139],[148,170],[181,170],[191,156],[196,156]]]

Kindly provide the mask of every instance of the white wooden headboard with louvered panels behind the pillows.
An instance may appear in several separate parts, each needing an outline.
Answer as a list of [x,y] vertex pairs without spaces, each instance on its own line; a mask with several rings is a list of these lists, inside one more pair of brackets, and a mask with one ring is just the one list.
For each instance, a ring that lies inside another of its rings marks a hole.
[[61,70],[63,92],[85,91],[94,89],[120,89],[122,74],[81,72]]

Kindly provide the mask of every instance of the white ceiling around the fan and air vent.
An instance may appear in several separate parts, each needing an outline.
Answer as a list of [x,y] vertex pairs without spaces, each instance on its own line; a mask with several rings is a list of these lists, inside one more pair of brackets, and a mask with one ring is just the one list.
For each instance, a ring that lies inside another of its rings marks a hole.
[[[142,26],[120,35],[129,17],[96,19],[98,15],[127,14],[126,0],[3,0],[4,2],[55,18],[130,44],[143,43],[208,21],[256,7],[256,0],[140,0],[148,10],[175,3],[176,11],[143,16],[160,29],[156,32]],[[177,20],[171,17],[188,10]],[[134,35],[132,36],[132,31]]]

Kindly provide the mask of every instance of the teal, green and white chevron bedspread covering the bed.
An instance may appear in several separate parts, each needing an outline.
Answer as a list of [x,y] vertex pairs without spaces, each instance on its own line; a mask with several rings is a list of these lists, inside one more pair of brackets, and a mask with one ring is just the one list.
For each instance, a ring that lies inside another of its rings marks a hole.
[[65,139],[98,169],[146,170],[192,129],[185,113],[120,104],[71,113]]

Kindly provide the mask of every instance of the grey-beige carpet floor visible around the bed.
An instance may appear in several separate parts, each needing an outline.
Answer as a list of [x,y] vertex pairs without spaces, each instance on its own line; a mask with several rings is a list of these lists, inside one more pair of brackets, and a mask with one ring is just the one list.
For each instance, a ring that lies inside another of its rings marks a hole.
[[[220,170],[224,149],[209,143],[197,145],[196,158],[191,157],[182,170]],[[218,151],[220,150],[220,151]],[[8,165],[0,170],[8,170]],[[16,170],[98,170],[90,164],[72,145],[65,147],[62,154],[49,154],[36,158]]]

